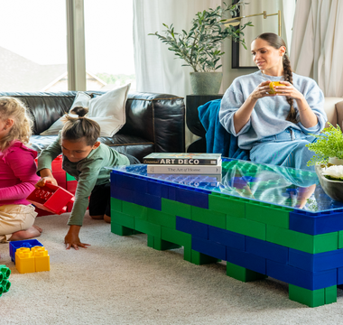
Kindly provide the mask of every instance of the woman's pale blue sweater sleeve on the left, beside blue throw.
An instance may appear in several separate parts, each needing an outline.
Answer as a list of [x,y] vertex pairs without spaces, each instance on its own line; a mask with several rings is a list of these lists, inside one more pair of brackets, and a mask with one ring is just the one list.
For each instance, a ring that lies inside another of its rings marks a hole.
[[245,134],[250,127],[250,119],[242,127],[242,129],[236,133],[234,125],[234,115],[239,107],[241,107],[245,102],[241,86],[237,80],[234,80],[232,85],[227,88],[225,92],[219,110],[219,121],[220,124],[224,126],[228,133],[231,135],[242,135]]

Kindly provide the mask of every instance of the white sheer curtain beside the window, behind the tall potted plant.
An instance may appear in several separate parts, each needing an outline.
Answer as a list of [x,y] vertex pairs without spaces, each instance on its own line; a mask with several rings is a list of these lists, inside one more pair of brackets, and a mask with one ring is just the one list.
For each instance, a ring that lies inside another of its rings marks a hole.
[[[181,96],[192,93],[190,67],[177,58],[168,46],[149,33],[163,34],[162,23],[189,31],[190,22],[199,11],[216,8],[221,0],[134,0],[134,66],[137,91]],[[196,136],[186,130],[186,146]]]

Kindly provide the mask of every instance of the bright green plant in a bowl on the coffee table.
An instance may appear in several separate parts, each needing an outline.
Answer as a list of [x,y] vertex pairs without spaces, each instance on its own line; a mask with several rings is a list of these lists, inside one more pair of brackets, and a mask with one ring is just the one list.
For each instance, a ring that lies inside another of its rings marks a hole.
[[320,135],[314,135],[317,141],[306,146],[315,155],[307,163],[315,165],[322,189],[333,200],[343,202],[343,134],[337,127],[330,125]]

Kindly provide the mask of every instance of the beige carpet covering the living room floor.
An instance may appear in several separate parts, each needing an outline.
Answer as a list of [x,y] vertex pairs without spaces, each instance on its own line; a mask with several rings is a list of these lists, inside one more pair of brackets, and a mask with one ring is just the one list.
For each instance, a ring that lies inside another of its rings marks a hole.
[[192,265],[182,249],[156,251],[145,235],[119,237],[103,221],[85,218],[88,249],[62,244],[69,214],[37,218],[51,271],[18,274],[0,245],[12,287],[0,297],[0,324],[342,324],[338,302],[308,308],[288,300],[286,283],[241,283],[225,263]]

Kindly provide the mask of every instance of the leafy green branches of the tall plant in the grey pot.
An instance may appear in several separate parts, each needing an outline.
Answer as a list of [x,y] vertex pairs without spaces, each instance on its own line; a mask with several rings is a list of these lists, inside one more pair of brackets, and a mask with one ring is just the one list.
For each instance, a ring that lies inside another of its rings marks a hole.
[[244,30],[246,26],[253,26],[251,22],[241,24],[239,28],[233,26],[225,26],[222,22],[224,14],[231,14],[236,16],[237,9],[240,6],[247,5],[242,1],[236,4],[218,6],[216,9],[209,8],[196,14],[191,21],[191,28],[189,32],[182,30],[182,32],[175,32],[174,27],[163,23],[167,29],[163,31],[165,36],[158,32],[150,33],[155,35],[163,43],[166,43],[168,50],[174,51],[177,56],[176,59],[186,61],[182,66],[190,66],[194,72],[213,72],[221,67],[219,64],[220,57],[225,53],[221,51],[221,43],[228,38],[235,42],[240,42],[246,49]]

